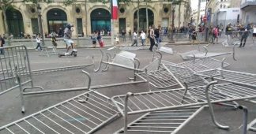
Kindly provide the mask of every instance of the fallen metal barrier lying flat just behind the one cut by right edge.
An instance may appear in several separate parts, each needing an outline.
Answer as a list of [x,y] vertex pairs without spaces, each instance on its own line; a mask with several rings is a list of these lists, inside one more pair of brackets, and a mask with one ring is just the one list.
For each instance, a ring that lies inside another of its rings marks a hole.
[[209,70],[209,69],[222,69],[228,67],[230,64],[222,61],[216,60],[215,58],[198,58],[193,61],[184,61],[178,63],[178,66],[191,69],[194,72]]

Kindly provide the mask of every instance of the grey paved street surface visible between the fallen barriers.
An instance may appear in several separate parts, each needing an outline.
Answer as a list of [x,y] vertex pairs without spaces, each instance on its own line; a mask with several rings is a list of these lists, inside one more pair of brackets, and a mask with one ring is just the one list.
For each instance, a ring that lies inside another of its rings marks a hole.
[[[203,45],[201,45],[202,47]],[[171,61],[179,63],[182,60],[179,53],[186,52],[188,50],[195,50],[198,46],[191,45],[176,45],[167,46],[171,47],[175,54],[163,54],[163,59],[166,61]],[[40,52],[36,50],[29,50],[29,59],[31,63],[32,70],[36,69],[49,69],[55,67],[63,67],[70,65],[85,65],[92,63],[92,56],[95,59],[96,65],[100,61],[100,50],[98,48],[78,48],[77,58],[73,57],[62,57],[58,58],[57,55],[39,56]],[[60,50],[65,51],[65,50]],[[104,48],[107,51],[107,47]],[[227,52],[232,51],[232,47],[223,47],[221,44],[214,44],[209,46],[209,51],[213,52]],[[226,61],[231,64],[228,69],[241,71],[246,73],[256,73],[256,46],[252,43],[247,44],[244,48],[235,48],[235,58],[237,61],[232,60],[232,55],[224,55],[218,59],[226,57]],[[132,51],[137,54],[137,58],[141,61],[141,68],[152,60],[152,52],[148,49],[135,50]],[[93,65],[86,67],[86,72],[92,77],[92,86],[102,85],[102,84],[116,84],[124,83],[129,81],[128,77],[133,76],[133,71],[128,69],[122,69],[119,67],[110,66],[107,72],[93,72]],[[81,73],[81,69],[74,69],[70,71],[59,71],[56,73],[44,73],[40,75],[33,75],[34,85],[42,86],[45,90],[51,89],[62,89],[71,87],[84,87],[87,85],[87,79],[85,74]],[[100,93],[112,97],[113,95],[123,95],[126,92],[143,92],[148,91],[147,84],[130,84],[125,86],[116,87],[104,87],[96,89]],[[58,102],[62,102],[66,99],[70,99],[75,95],[80,95],[85,91],[72,91],[72,92],[62,92],[62,93],[51,93],[44,95],[27,95],[25,99],[25,114],[21,114],[21,102],[19,97],[18,89],[9,91],[8,93],[0,96],[0,126],[6,125],[11,121],[16,121],[21,117],[28,116],[39,110],[43,110],[48,106],[52,106]],[[249,110],[249,121],[252,121],[256,117],[256,107],[254,104],[249,102],[239,102],[248,107]],[[242,123],[243,123],[243,111],[233,110],[230,107],[214,105],[214,110],[216,112],[216,119],[221,124],[229,125],[230,129],[222,130],[216,128],[211,121],[209,115],[209,109],[205,108],[198,114],[192,121],[190,121],[179,134],[236,134],[242,133]],[[129,122],[133,121],[135,118],[139,117],[141,114],[129,116]],[[113,121],[110,125],[101,128],[96,134],[113,133],[123,127],[123,118]],[[141,132],[138,132],[141,133]],[[144,133],[144,132],[143,132]],[[254,133],[254,132],[248,132]]]

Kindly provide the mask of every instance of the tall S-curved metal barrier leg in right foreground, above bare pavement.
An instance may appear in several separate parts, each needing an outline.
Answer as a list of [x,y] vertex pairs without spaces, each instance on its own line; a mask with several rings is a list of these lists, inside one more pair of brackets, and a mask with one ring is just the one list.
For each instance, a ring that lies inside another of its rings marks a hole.
[[228,129],[229,127],[226,126],[226,125],[220,125],[217,121],[216,121],[216,118],[215,118],[215,115],[214,115],[214,111],[213,111],[213,105],[209,99],[209,88],[213,85],[213,84],[216,84],[217,81],[212,81],[210,82],[206,87],[205,87],[205,95],[206,95],[206,99],[207,99],[207,102],[208,102],[208,105],[209,105],[209,112],[211,114],[211,117],[212,117],[212,120],[213,120],[213,123],[214,125],[216,125],[218,128],[222,128],[222,129]]

